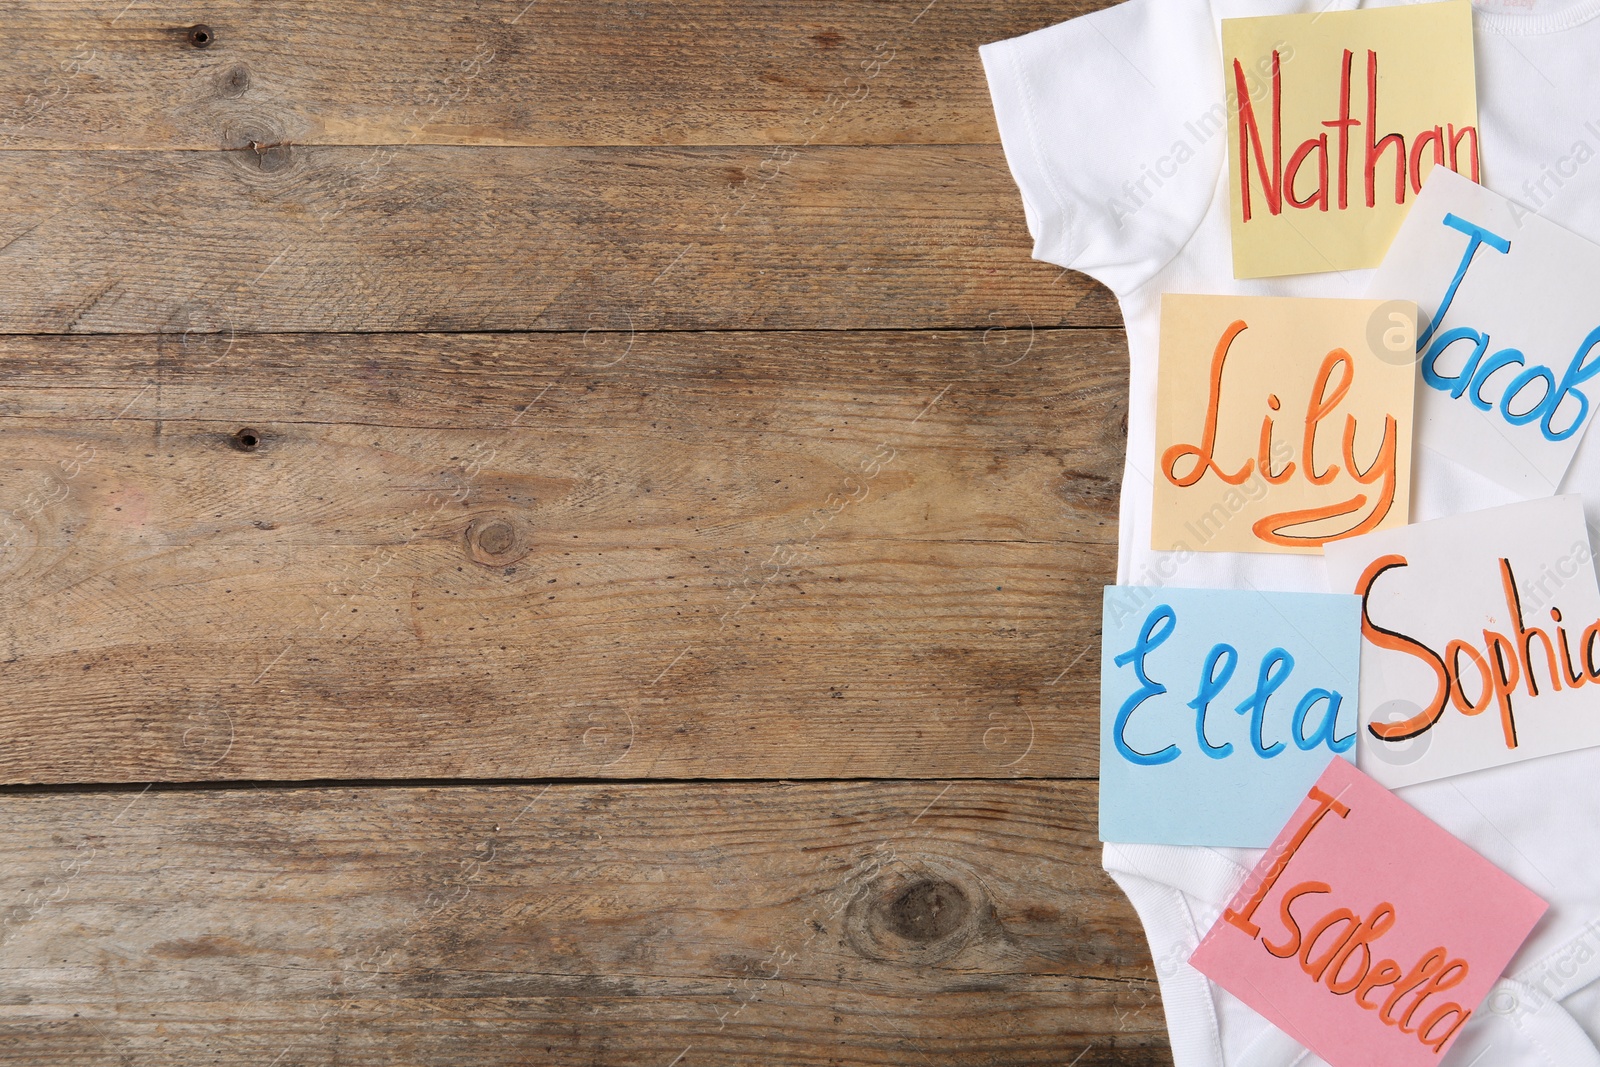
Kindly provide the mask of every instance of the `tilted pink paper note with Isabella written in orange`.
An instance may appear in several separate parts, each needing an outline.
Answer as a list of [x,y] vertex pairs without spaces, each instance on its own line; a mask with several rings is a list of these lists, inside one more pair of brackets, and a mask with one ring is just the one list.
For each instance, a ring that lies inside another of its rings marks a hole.
[[1334,760],[1189,961],[1333,1067],[1438,1064],[1544,909]]

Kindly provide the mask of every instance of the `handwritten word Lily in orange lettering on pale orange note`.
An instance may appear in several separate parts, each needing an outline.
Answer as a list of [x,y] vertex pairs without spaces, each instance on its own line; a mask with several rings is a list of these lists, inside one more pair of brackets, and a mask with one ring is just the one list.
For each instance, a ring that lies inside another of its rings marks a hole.
[[[1269,413],[1261,419],[1261,445],[1254,458],[1246,459],[1243,466],[1237,470],[1224,470],[1216,462],[1216,422],[1219,408],[1222,403],[1222,368],[1227,363],[1227,354],[1250,325],[1243,320],[1234,322],[1224,333],[1222,339],[1216,344],[1216,352],[1211,357],[1211,392],[1206,402],[1205,411],[1205,429],[1200,437],[1198,445],[1173,445],[1162,453],[1162,475],[1176,485],[1178,488],[1189,488],[1200,482],[1206,472],[1214,474],[1218,478],[1227,485],[1243,485],[1245,480],[1251,477],[1253,472],[1259,469],[1261,477],[1266,478],[1269,485],[1283,485],[1290,478],[1299,474],[1301,478],[1315,486],[1330,485],[1339,477],[1339,464],[1331,462],[1322,470],[1317,469],[1317,427],[1318,424],[1331,416],[1334,410],[1350,392],[1350,386],[1355,382],[1355,366],[1350,354],[1344,349],[1331,350],[1322,362],[1322,368],[1317,371],[1317,382],[1312,386],[1310,398],[1306,403],[1306,418],[1302,421],[1301,434],[1301,462],[1296,464],[1293,459],[1285,462],[1282,469],[1274,470],[1272,461],[1272,432],[1274,432],[1274,416],[1270,413],[1278,411],[1283,405],[1277,394],[1267,394]],[[1323,504],[1320,507],[1307,507],[1291,512],[1278,512],[1267,515],[1266,518],[1256,520],[1251,531],[1261,541],[1285,547],[1320,547],[1330,541],[1339,541],[1344,537],[1354,537],[1357,534],[1376,530],[1379,523],[1389,515],[1389,509],[1394,507],[1395,501],[1395,451],[1398,435],[1398,426],[1392,414],[1384,416],[1384,437],[1378,445],[1378,454],[1373,461],[1362,469],[1355,461],[1355,416],[1344,416],[1344,469],[1349,472],[1358,485],[1379,483],[1378,498],[1373,501],[1371,510],[1366,518],[1350,523],[1344,530],[1334,533],[1315,533],[1315,534],[1294,534],[1286,533],[1294,526],[1302,526],[1306,523],[1315,523],[1331,518],[1344,518],[1346,515],[1357,515],[1366,507],[1371,499],[1366,493],[1355,493],[1354,496],[1336,501],[1333,504]],[[1186,474],[1178,474],[1179,464],[1186,459],[1194,461]]]

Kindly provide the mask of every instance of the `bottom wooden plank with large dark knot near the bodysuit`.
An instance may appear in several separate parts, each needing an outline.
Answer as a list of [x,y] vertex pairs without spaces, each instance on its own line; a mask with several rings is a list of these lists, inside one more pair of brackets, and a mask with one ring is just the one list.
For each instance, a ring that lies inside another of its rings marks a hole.
[[1086,782],[5,795],[0,1062],[1168,1064]]

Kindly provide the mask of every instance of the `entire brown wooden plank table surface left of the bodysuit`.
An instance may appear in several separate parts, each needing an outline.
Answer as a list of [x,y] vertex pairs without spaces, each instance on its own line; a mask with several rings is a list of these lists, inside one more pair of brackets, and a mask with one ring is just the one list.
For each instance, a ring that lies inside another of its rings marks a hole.
[[1170,1062],[1091,6],[13,5],[0,1062]]

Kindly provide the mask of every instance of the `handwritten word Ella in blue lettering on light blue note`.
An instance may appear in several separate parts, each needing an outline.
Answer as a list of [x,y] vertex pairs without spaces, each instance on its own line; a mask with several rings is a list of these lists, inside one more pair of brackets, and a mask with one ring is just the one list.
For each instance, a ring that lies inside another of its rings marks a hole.
[[[1139,688],[1134,689],[1117,710],[1117,720],[1112,726],[1112,745],[1115,745],[1117,753],[1122,755],[1122,758],[1139,766],[1171,763],[1182,752],[1176,744],[1170,744],[1155,752],[1139,752],[1128,744],[1126,737],[1128,723],[1134,712],[1138,712],[1147,701],[1166,694],[1166,686],[1150,678],[1146,661],[1150,653],[1160,648],[1162,643],[1173,635],[1176,629],[1178,613],[1173,611],[1171,605],[1158,605],[1149,616],[1146,616],[1144,627],[1139,630],[1139,640],[1134,641],[1133,648],[1115,657],[1115,664],[1118,667],[1133,667],[1133,675],[1138,678]],[[1222,744],[1211,744],[1206,736],[1206,721],[1211,718],[1213,701],[1222,694],[1229,681],[1232,681],[1237,669],[1238,649],[1226,641],[1218,641],[1206,654],[1205,662],[1200,665],[1200,678],[1195,686],[1195,696],[1187,702],[1187,707],[1195,717],[1195,744],[1200,752],[1206,753],[1213,760],[1224,760],[1234,752],[1232,742],[1224,741]],[[1250,689],[1248,696],[1245,696],[1245,699],[1234,707],[1234,710],[1240,715],[1250,717],[1250,747],[1262,760],[1270,760],[1283,752],[1282,741],[1269,742],[1266,737],[1267,702],[1278,689],[1283,688],[1293,670],[1294,656],[1282,648],[1274,648],[1262,656],[1261,665],[1256,670],[1254,686]],[[1307,734],[1306,720],[1310,718],[1318,704],[1322,705],[1322,718]],[[1290,741],[1294,742],[1294,747],[1302,752],[1310,752],[1318,745],[1326,745],[1331,752],[1349,750],[1350,745],[1355,744],[1355,734],[1334,737],[1339,707],[1342,704],[1344,697],[1339,693],[1320,688],[1307,689],[1294,705],[1294,717],[1288,731]]]

